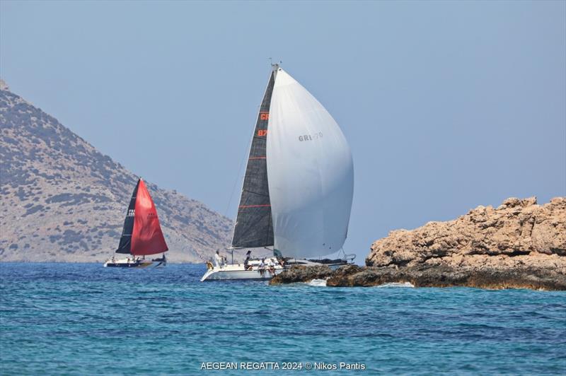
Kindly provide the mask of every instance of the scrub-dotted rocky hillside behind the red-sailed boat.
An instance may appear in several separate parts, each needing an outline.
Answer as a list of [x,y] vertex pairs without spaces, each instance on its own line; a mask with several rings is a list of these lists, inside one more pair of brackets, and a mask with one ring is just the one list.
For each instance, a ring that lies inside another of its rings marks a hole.
[[[0,261],[102,262],[137,176],[0,82]],[[146,182],[172,262],[226,247],[232,222]]]

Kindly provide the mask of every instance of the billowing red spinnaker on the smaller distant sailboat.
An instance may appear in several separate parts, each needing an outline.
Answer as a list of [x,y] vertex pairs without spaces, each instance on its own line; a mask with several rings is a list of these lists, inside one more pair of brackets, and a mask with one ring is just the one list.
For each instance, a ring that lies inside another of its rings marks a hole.
[[130,252],[135,255],[166,252],[168,248],[161,232],[154,200],[149,196],[143,180],[139,181],[135,210]]

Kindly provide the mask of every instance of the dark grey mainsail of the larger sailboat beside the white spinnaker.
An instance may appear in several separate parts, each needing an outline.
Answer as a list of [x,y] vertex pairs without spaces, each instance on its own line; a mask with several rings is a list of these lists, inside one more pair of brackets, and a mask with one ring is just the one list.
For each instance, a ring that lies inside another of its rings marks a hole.
[[233,248],[255,248],[273,245],[273,223],[271,218],[270,192],[267,186],[267,124],[270,118],[270,103],[275,69],[267,84],[255,123],[248,167],[243,179],[242,195],[232,238]]

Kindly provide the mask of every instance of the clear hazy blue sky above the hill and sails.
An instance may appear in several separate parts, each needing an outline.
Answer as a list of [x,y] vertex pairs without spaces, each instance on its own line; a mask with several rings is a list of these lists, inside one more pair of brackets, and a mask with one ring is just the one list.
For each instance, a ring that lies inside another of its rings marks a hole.
[[396,228],[566,195],[565,1],[0,2],[13,92],[231,218],[269,57],[352,147],[359,259]]

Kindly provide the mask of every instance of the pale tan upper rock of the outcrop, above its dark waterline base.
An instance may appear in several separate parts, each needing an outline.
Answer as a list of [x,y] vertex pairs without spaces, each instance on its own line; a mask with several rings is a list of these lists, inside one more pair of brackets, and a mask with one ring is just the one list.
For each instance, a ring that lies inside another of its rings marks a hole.
[[396,230],[371,245],[368,266],[442,265],[454,269],[558,268],[566,273],[566,198],[478,206],[454,221]]

